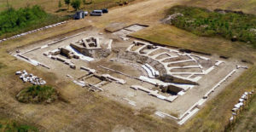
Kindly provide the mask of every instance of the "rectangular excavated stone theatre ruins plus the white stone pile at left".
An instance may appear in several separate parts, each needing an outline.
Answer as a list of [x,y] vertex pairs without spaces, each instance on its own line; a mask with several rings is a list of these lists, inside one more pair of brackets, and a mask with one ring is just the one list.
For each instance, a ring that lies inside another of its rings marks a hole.
[[[129,35],[147,29],[134,24],[115,32],[96,27],[68,37],[14,49],[12,55],[54,72],[65,81],[133,109],[154,107],[154,116],[182,125],[203,109],[247,66],[139,40]],[[23,71],[24,69],[20,69]],[[39,83],[17,72],[24,82]]]

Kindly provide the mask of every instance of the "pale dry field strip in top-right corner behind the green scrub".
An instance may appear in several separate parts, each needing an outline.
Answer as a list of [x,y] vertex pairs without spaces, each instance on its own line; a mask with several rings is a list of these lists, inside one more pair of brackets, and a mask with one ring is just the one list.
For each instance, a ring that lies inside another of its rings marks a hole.
[[242,10],[247,14],[256,14],[255,0],[184,0],[188,6],[197,6],[207,9]]

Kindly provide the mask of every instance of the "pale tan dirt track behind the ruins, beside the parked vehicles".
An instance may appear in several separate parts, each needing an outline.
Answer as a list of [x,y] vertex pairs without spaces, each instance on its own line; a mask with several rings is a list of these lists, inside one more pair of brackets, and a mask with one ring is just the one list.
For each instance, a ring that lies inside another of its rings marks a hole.
[[164,17],[166,9],[180,3],[179,0],[146,0],[133,3],[125,7],[116,7],[110,9],[108,14],[102,17],[86,17],[84,20],[75,20],[75,25],[83,25],[90,23],[92,26],[104,28],[113,22],[122,22],[126,25],[133,23],[145,24],[153,26],[159,23]]

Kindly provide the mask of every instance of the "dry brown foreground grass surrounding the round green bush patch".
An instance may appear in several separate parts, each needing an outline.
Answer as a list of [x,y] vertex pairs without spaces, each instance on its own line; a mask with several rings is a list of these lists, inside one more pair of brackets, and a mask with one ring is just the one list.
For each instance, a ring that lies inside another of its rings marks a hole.
[[14,96],[19,89],[24,87],[24,84],[15,75],[11,76],[15,70],[19,69],[17,64],[20,64],[20,68],[28,69],[27,71],[31,72],[31,66],[27,66],[25,62],[14,61],[14,66],[9,66],[12,70],[5,69],[8,72],[4,72],[5,75],[0,77],[1,80],[8,81],[8,83],[1,83],[0,89],[4,92],[1,93],[0,100],[4,109],[1,109],[0,112],[3,114],[2,111],[8,111],[9,114],[12,114],[9,118],[20,115],[20,118],[17,119],[26,118],[26,120],[36,123],[48,131],[61,129],[67,131],[82,131],[83,129],[111,131],[118,124],[131,127],[136,131],[171,131],[176,129],[171,123],[158,121],[149,115],[137,116],[135,115],[136,112],[127,106],[122,106],[97,94],[91,94],[73,83],[63,83],[58,77],[54,79],[45,77],[48,73],[38,69],[38,67],[33,67],[32,72],[38,76],[44,75],[43,78],[46,78],[49,84],[55,85],[63,98],[69,100],[70,103],[58,101],[47,106],[20,104],[14,99]]

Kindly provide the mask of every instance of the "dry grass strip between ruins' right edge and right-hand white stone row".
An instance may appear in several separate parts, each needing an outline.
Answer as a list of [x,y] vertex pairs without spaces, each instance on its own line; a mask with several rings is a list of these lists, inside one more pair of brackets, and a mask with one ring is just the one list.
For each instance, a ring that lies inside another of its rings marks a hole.
[[230,83],[223,92],[207,102],[207,106],[182,128],[184,131],[222,131],[231,117],[231,109],[245,91],[255,90],[256,66]]

